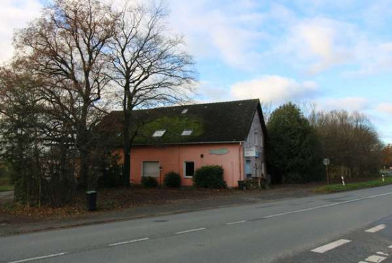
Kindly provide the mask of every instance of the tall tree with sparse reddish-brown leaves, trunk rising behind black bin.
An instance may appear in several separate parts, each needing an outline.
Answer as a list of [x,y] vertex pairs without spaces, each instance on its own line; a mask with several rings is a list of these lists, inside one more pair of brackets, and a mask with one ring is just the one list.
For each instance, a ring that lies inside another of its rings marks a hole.
[[83,185],[88,185],[95,112],[109,81],[105,53],[114,21],[110,6],[101,1],[55,0],[15,36],[19,57],[44,80],[48,103],[60,109],[63,121],[74,129]]

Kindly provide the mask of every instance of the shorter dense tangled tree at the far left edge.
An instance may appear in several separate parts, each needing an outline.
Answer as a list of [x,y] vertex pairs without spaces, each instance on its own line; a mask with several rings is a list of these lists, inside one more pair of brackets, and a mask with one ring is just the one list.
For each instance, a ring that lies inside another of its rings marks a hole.
[[41,85],[17,63],[0,69],[0,156],[11,166],[15,200],[57,206],[70,201],[75,189],[72,129],[47,103]]

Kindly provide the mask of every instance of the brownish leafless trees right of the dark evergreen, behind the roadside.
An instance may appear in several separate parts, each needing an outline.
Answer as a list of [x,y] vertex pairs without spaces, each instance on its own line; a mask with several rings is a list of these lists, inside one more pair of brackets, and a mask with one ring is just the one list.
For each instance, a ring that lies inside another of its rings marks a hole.
[[319,135],[324,157],[331,159],[335,176],[358,178],[378,173],[382,144],[365,115],[313,109],[308,118]]

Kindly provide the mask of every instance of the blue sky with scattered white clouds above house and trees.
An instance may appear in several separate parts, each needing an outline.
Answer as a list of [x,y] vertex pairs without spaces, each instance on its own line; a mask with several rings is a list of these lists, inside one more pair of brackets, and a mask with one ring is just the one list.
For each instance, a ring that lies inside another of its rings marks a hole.
[[[3,3],[4,1],[4,3]],[[2,0],[0,60],[12,28],[43,1]],[[185,36],[199,72],[198,101],[259,98],[275,107],[367,114],[392,143],[392,0],[167,0],[170,26]]]

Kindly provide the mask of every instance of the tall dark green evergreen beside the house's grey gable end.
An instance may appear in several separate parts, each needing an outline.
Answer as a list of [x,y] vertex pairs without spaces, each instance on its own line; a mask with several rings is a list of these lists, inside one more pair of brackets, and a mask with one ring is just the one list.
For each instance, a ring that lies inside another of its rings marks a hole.
[[308,183],[325,178],[321,141],[292,102],[272,112],[267,124],[267,163],[272,183]]

